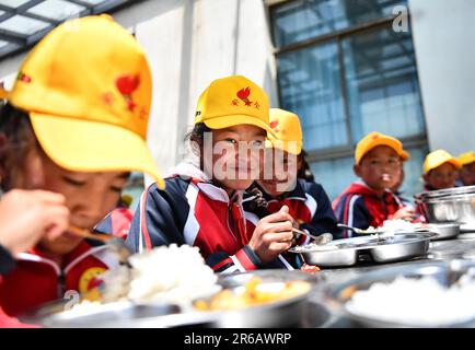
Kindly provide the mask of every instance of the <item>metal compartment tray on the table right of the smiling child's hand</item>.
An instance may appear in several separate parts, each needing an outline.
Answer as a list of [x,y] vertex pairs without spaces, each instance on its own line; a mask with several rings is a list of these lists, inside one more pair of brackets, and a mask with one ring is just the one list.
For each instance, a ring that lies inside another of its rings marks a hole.
[[346,240],[336,240],[327,245],[336,246],[332,250],[303,250],[292,248],[291,253],[300,254],[309,265],[321,267],[352,266],[359,261],[360,256],[368,254],[375,262],[402,261],[425,256],[429,249],[430,240],[437,234],[397,233],[391,237],[362,236]]

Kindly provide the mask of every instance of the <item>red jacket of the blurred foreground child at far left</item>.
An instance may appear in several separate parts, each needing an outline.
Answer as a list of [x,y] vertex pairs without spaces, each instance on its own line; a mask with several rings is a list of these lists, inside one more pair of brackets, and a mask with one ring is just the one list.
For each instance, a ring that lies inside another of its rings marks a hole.
[[97,275],[117,266],[107,246],[86,240],[63,257],[61,266],[35,249],[19,254],[15,267],[0,278],[0,307],[10,316],[21,316],[65,298],[67,291],[89,291],[97,285]]

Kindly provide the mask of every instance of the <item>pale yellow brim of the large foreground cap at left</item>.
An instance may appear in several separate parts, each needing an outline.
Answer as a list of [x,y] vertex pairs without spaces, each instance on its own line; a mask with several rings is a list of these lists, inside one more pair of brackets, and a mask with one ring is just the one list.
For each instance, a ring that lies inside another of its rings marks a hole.
[[146,142],[135,132],[109,124],[30,113],[46,154],[73,172],[142,172],[163,189],[165,183]]

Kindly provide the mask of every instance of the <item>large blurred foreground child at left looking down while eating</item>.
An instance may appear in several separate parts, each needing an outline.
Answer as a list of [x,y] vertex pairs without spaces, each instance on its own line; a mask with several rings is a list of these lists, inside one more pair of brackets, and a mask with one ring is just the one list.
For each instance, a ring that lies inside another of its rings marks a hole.
[[12,252],[16,266],[0,284],[0,305],[10,315],[94,287],[118,260],[107,246],[65,226],[92,230],[114,209],[131,171],[163,185],[144,141],[151,74],[143,50],[109,16],[76,21],[30,52],[0,113],[2,189],[57,192],[59,199],[37,201],[66,212],[37,222],[59,236],[45,234],[33,249]]

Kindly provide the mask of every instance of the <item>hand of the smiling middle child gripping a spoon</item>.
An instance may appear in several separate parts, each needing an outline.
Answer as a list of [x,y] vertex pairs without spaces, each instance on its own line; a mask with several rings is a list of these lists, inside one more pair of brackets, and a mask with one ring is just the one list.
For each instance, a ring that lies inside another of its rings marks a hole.
[[263,262],[269,262],[292,245],[292,217],[283,206],[279,212],[267,215],[257,222],[250,242],[251,248]]

